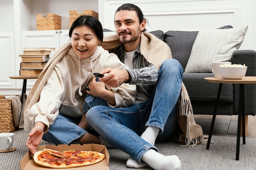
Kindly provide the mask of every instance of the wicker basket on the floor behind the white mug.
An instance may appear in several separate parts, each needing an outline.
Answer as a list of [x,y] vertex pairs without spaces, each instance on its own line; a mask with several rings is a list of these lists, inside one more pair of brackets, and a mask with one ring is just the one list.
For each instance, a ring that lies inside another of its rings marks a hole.
[[5,99],[0,95],[0,133],[12,132],[15,130],[13,115],[11,110],[11,99]]

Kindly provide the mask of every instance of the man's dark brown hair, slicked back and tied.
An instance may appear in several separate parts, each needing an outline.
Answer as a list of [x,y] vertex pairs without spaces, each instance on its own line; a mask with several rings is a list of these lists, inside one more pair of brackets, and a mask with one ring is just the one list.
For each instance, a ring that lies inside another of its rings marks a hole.
[[[141,22],[143,20],[146,20],[146,22],[148,22],[148,20],[146,18],[144,18],[144,15],[143,15],[141,9],[139,7],[137,7],[135,4],[123,4],[121,7],[119,7],[117,9],[117,11],[115,13],[122,11],[122,10],[123,11],[125,11],[125,10],[135,11],[137,13],[137,17],[139,18],[139,24],[141,24]],[[144,31],[147,31],[146,28],[142,32],[144,32]]]

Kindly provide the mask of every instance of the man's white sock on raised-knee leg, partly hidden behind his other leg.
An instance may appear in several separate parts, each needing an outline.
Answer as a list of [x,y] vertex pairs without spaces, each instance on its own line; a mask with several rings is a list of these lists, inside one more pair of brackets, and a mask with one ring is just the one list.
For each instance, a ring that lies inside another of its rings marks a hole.
[[[150,143],[151,145],[155,145],[155,139],[157,138],[157,135],[159,133],[159,128],[155,126],[148,126],[146,130],[142,133],[141,138]],[[129,168],[142,168],[145,166],[148,166],[147,163],[140,163],[133,159],[132,157],[129,157],[126,166]]]

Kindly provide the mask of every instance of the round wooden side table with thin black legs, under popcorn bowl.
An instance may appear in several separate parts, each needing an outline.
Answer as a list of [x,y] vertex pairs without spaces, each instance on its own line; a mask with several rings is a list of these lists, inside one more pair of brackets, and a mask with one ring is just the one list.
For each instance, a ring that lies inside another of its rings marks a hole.
[[241,131],[241,118],[242,118],[242,133],[243,133],[243,144],[245,144],[245,84],[256,84],[256,76],[245,76],[242,79],[223,79],[215,77],[205,77],[207,82],[219,83],[217,99],[213,111],[213,118],[211,120],[211,129],[209,132],[209,138],[206,149],[209,149],[211,143],[211,136],[213,132],[214,121],[216,118],[218,102],[220,99],[220,92],[223,83],[239,84],[239,104],[238,104],[238,123],[237,123],[237,140],[236,140],[236,160],[239,160],[240,150],[240,131]]

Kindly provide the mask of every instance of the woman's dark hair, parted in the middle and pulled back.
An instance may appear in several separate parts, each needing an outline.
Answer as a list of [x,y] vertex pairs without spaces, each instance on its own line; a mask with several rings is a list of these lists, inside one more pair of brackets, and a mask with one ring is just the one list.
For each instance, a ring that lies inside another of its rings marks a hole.
[[102,25],[101,25],[101,22],[99,22],[99,20],[97,18],[95,18],[93,16],[89,16],[89,15],[81,15],[79,18],[76,18],[76,20],[70,26],[70,32],[68,34],[70,36],[70,38],[72,36],[73,30],[77,26],[88,26],[89,28],[91,28],[94,31],[94,33],[97,35],[97,38],[101,42],[103,41]]

